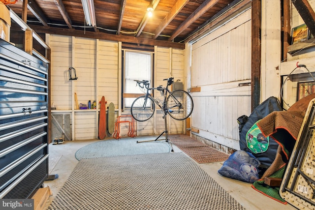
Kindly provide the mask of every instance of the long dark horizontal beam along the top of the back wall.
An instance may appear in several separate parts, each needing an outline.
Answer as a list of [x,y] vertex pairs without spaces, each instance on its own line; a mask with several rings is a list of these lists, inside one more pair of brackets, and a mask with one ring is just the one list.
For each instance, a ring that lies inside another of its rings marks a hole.
[[55,27],[43,27],[36,25],[29,25],[32,30],[36,31],[36,33],[51,33],[51,34],[59,34],[65,36],[77,36],[77,37],[85,37],[92,39],[103,39],[109,41],[120,41],[120,42],[128,42],[142,45],[151,45],[151,46],[159,46],[159,47],[171,47],[176,49],[185,49],[185,44],[182,43],[174,43],[169,41],[161,41],[147,38],[138,38],[134,36],[128,35],[115,35],[104,32],[93,32],[93,31],[84,31],[84,30],[74,30],[74,29],[62,29]]

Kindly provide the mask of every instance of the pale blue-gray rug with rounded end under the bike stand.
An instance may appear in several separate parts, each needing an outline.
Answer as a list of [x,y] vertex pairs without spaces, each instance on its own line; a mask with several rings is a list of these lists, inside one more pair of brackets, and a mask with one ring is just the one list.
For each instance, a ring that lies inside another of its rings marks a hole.
[[87,145],[77,150],[75,157],[78,160],[95,157],[111,157],[121,155],[149,154],[170,152],[170,146],[167,142],[142,142],[137,141],[148,140],[151,137],[142,138],[122,138],[109,139]]

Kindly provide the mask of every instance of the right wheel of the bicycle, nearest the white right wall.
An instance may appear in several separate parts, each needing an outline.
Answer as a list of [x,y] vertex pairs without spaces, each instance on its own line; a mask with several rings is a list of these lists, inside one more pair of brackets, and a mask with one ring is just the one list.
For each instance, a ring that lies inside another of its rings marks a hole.
[[185,90],[175,90],[166,99],[168,114],[175,120],[185,120],[192,112],[193,102]]

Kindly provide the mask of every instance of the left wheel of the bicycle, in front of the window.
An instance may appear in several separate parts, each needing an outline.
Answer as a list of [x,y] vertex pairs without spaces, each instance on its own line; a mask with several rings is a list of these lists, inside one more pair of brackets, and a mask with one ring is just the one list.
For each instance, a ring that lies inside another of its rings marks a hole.
[[156,109],[152,98],[145,95],[137,97],[131,104],[131,115],[134,120],[146,121],[149,120]]

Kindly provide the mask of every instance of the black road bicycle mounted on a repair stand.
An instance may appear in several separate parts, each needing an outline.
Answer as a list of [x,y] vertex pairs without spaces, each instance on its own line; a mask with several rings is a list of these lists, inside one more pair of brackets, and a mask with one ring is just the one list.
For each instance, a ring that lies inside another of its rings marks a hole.
[[[170,77],[167,80],[166,87],[158,86],[157,88],[150,88],[150,83],[147,80],[134,80],[137,86],[145,93],[136,98],[131,104],[131,115],[137,121],[149,120],[155,112],[156,106],[162,110],[163,118],[167,114],[175,120],[185,120],[192,112],[193,102],[188,92],[185,90],[174,90],[170,91],[168,86],[174,83],[174,78]],[[151,90],[158,90],[163,96],[163,100],[154,98],[150,93]]]

